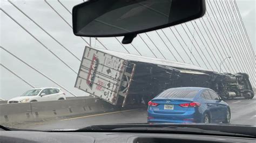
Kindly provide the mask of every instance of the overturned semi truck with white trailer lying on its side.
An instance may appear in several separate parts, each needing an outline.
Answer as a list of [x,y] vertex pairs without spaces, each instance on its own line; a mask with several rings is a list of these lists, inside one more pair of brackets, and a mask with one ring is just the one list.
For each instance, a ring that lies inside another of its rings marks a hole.
[[113,105],[146,103],[174,87],[207,87],[222,98],[253,98],[245,73],[216,73],[186,63],[85,47],[75,87]]

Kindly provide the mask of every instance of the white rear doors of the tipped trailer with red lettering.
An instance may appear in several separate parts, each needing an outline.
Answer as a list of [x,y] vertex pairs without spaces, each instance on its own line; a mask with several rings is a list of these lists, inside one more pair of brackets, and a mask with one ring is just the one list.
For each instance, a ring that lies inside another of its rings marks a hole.
[[116,105],[126,63],[117,56],[86,46],[75,87]]

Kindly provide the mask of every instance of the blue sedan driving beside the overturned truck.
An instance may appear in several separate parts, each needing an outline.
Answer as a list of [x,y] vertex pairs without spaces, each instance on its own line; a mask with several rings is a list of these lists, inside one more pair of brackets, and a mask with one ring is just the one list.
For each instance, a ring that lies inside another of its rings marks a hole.
[[153,98],[148,123],[230,123],[230,107],[208,88],[171,88]]

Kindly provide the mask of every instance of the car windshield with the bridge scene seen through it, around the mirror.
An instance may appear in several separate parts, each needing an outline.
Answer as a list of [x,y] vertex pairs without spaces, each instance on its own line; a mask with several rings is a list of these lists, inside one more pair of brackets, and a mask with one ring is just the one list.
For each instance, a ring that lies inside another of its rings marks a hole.
[[256,125],[254,0],[206,0],[203,17],[131,44],[74,35],[72,8],[83,2],[1,0],[1,125]]

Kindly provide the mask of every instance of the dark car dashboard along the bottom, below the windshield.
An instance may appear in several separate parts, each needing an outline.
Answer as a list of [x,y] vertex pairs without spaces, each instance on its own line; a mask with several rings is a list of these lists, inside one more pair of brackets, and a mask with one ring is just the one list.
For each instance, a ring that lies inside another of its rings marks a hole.
[[0,142],[256,142],[254,138],[173,133],[0,131]]

